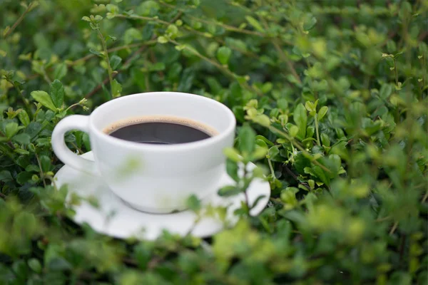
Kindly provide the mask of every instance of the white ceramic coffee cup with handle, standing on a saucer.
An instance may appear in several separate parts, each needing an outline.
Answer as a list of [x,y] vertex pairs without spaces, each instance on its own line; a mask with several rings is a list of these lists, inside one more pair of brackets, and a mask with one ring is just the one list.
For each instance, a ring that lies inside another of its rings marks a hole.
[[[109,125],[141,116],[193,120],[216,131],[205,140],[151,145],[114,138]],[[91,115],[63,118],[52,133],[52,147],[66,165],[103,177],[110,189],[132,207],[153,213],[185,209],[190,195],[200,199],[218,190],[225,171],[225,147],[233,145],[235,116],[225,105],[200,95],[153,92],[108,101]],[[64,134],[88,133],[95,162],[68,149]]]

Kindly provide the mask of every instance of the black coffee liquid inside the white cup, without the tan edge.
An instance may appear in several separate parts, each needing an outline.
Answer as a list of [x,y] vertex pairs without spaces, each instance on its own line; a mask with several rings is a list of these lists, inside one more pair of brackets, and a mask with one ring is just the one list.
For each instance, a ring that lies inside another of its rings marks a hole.
[[132,125],[121,125],[116,130],[108,132],[108,135],[121,140],[153,145],[196,142],[212,136],[208,132],[193,127],[174,122],[141,122],[133,123]]

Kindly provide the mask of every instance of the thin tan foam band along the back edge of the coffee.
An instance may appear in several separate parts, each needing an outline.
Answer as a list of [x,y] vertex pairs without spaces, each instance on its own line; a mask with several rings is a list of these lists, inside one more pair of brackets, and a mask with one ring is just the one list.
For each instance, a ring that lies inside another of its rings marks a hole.
[[103,128],[103,133],[111,134],[114,131],[126,127],[128,125],[137,125],[141,123],[173,123],[178,125],[185,125],[190,128],[195,128],[200,130],[211,137],[218,135],[218,131],[215,128],[210,127],[209,125],[205,125],[203,123],[199,123],[198,121],[191,120],[188,118],[180,118],[169,115],[148,115],[148,116],[138,116],[126,118],[123,120],[118,120],[106,128]]

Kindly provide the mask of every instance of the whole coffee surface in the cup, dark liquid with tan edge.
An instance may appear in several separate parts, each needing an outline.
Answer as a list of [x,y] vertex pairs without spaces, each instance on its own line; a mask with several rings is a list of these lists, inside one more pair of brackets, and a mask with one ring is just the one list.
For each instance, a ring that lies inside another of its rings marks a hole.
[[153,145],[175,145],[205,140],[215,135],[202,123],[174,118],[141,118],[123,120],[104,130],[114,138]]

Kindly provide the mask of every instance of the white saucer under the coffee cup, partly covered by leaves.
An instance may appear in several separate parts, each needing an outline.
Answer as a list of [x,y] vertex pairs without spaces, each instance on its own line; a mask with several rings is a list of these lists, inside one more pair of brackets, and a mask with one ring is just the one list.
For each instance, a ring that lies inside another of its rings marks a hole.
[[[88,160],[93,160],[92,152],[82,155]],[[250,165],[251,168],[255,165]],[[120,198],[108,189],[100,177],[88,175],[78,170],[74,170],[64,165],[56,175],[56,186],[68,185],[68,195],[72,192],[80,197],[95,197],[98,200],[98,208],[93,207],[88,202],[81,202],[73,207],[76,214],[72,219],[78,223],[89,224],[97,232],[107,234],[112,237],[138,239],[156,239],[163,229],[173,234],[184,236],[191,230],[195,237],[208,237],[220,232],[224,227],[224,222],[214,217],[202,217],[195,224],[196,214],[187,210],[173,214],[150,214],[139,212],[125,204]],[[220,187],[233,185],[235,182],[225,172]],[[259,214],[266,206],[270,197],[270,186],[268,182],[257,179],[248,188],[248,202],[253,204],[255,199],[264,196],[258,201],[256,207],[251,209],[251,215]],[[237,217],[233,215],[233,210],[238,209],[242,201],[245,201],[243,194],[233,197],[220,197],[217,194],[204,199],[203,204],[213,206],[227,206],[227,222],[229,225],[237,222]],[[192,229],[193,227],[193,229]]]

